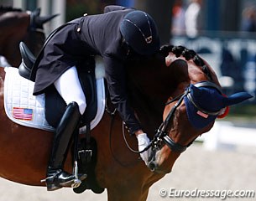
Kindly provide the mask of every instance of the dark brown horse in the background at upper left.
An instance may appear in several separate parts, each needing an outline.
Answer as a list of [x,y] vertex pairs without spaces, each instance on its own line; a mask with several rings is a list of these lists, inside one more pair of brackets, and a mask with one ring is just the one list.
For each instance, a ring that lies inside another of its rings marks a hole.
[[35,55],[43,47],[43,25],[57,14],[47,17],[40,17],[39,14],[40,8],[24,12],[18,8],[0,7],[0,55],[5,57],[10,66],[18,67],[21,63],[18,48],[20,41],[24,41]]

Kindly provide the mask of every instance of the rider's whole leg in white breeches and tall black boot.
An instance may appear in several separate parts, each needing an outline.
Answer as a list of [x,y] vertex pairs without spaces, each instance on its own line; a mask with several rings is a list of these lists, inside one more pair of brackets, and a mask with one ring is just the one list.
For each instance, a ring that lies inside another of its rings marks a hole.
[[[63,167],[71,136],[80,123],[81,115],[86,110],[86,97],[81,89],[76,67],[66,70],[54,85],[65,100],[67,107],[56,127],[50,154],[46,179],[47,189],[50,191],[63,186],[71,186],[75,180],[75,176],[63,171]],[[83,180],[86,175],[80,175],[80,177]]]

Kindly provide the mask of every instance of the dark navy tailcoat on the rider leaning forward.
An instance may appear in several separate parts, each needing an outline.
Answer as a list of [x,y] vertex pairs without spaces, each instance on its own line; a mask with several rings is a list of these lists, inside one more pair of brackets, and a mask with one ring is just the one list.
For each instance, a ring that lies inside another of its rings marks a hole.
[[131,132],[140,129],[138,120],[128,104],[123,63],[127,52],[122,48],[120,23],[130,8],[110,6],[105,13],[76,18],[59,28],[34,66],[36,71],[34,95],[44,93],[65,70],[76,66],[90,55],[101,55],[112,103]]

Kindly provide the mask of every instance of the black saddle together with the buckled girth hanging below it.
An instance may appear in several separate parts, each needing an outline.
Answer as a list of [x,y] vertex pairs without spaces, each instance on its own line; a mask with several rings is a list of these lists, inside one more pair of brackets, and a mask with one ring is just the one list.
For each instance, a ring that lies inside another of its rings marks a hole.
[[[22,64],[18,68],[18,73],[22,77],[30,80],[30,75],[36,59],[23,42],[19,44],[19,48],[22,55]],[[91,121],[97,115],[95,66],[95,59],[92,56],[86,58],[84,62],[81,62],[76,66],[82,90],[86,95],[86,111],[81,118],[81,125],[86,126],[86,137],[80,139],[78,142],[79,137],[76,135],[72,150],[74,152],[74,161],[77,159],[78,162],[79,173],[86,173],[88,177],[78,188],[73,188],[75,193],[82,193],[86,189],[91,189],[94,193],[102,193],[104,191],[104,188],[100,187],[96,180],[94,169],[97,163],[97,142],[90,135]],[[50,126],[57,126],[61,116],[63,116],[65,112],[65,107],[65,101],[55,87],[49,87],[49,89],[45,91],[44,112],[45,119]]]

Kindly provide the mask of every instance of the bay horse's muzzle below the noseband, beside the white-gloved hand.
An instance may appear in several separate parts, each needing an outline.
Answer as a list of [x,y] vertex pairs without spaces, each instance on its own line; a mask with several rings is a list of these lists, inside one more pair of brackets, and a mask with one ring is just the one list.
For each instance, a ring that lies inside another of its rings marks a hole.
[[165,145],[152,153],[147,166],[154,173],[170,173],[179,156],[180,152],[173,152]]

